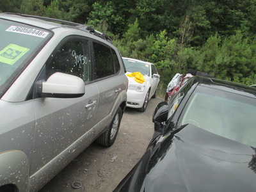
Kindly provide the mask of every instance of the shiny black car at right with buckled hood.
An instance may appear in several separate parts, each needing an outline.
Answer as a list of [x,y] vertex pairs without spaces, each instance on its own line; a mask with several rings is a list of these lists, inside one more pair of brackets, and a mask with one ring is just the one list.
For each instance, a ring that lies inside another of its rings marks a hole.
[[191,77],[153,114],[147,151],[114,191],[256,191],[256,88]]

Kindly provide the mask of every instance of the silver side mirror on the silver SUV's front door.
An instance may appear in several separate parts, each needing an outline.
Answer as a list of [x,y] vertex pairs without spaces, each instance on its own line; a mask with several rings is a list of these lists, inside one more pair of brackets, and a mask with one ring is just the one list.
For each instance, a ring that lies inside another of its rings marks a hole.
[[40,97],[76,98],[84,95],[84,81],[80,77],[56,72],[47,81],[38,81]]

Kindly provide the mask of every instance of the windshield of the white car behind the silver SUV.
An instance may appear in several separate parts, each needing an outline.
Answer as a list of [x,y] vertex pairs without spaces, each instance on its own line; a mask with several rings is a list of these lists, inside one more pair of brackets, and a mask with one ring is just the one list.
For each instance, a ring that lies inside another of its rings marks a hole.
[[143,76],[150,76],[150,65],[147,63],[124,59],[124,65],[128,72],[141,72]]

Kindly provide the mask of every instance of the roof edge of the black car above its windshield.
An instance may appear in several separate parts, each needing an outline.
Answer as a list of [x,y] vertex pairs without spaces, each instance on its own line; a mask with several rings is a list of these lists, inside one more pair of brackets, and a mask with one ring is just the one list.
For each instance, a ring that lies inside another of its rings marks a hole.
[[256,99],[256,88],[251,86],[211,77],[194,76],[191,77],[191,79],[194,79],[194,84],[198,83],[199,86],[214,88],[216,90],[223,90],[225,92],[236,93],[238,95],[244,95],[246,97],[253,97]]

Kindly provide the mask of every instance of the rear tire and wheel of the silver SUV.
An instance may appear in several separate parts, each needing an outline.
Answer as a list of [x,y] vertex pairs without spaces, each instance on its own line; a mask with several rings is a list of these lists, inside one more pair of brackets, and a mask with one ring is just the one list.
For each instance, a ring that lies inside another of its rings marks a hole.
[[106,147],[110,147],[111,145],[113,145],[113,143],[116,140],[116,136],[120,127],[121,119],[122,119],[122,110],[121,108],[118,108],[107,131],[100,134],[96,142]]

